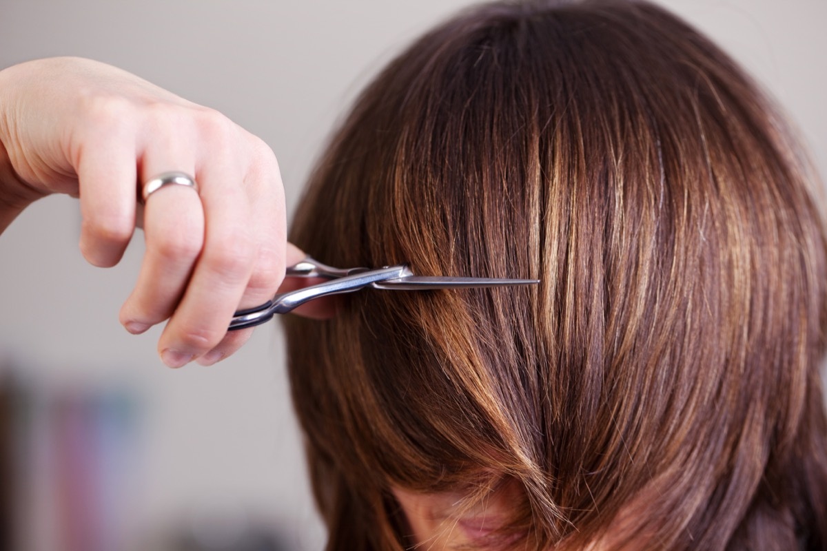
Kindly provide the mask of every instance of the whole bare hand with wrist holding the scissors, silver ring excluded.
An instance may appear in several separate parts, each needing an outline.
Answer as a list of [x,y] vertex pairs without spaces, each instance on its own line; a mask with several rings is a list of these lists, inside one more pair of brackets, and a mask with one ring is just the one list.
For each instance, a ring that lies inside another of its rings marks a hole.
[[[41,59],[0,71],[0,230],[50,193],[80,199],[80,249],[112,266],[141,223],[146,254],[121,309],[141,333],[169,319],[163,361],[215,363],[251,330],[227,334],[238,308],[269,300],[285,263],[284,190],[270,148],[227,117],[88,59]],[[170,170],[198,193],[165,186],[141,212],[137,186]]]

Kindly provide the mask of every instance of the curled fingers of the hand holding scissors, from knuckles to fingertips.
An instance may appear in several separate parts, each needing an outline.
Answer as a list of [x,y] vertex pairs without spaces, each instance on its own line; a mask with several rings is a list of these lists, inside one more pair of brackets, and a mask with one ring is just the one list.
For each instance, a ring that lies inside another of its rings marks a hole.
[[[229,356],[252,331],[227,335],[233,313],[270,300],[284,278],[284,191],[275,156],[198,106],[159,102],[136,110],[103,102],[93,119],[93,131],[76,140],[83,144],[84,256],[98,266],[117,264],[136,210],[146,238],[122,324],[141,333],[169,320],[158,347],[170,367]],[[173,170],[193,174],[198,193],[165,186],[137,206],[136,182]]]

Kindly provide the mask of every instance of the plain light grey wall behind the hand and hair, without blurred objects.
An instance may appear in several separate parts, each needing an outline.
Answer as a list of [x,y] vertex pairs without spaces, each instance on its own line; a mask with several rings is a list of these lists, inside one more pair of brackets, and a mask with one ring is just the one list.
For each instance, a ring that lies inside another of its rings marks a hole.
[[[0,66],[81,55],[216,107],[275,150],[292,207],[327,131],[366,78],[466,3],[2,0]],[[660,3],[768,85],[825,173],[827,2]],[[117,323],[141,259],[140,235],[108,270],[84,264],[78,237],[77,205],[65,197],[36,203],[0,236],[0,359],[45,389],[115,385],[142,397],[138,482],[123,496],[132,504],[133,541],[215,511],[244,511],[279,525],[291,548],[318,549],[322,530],[276,325],[214,367],[165,368],[155,355],[159,331],[136,337]]]

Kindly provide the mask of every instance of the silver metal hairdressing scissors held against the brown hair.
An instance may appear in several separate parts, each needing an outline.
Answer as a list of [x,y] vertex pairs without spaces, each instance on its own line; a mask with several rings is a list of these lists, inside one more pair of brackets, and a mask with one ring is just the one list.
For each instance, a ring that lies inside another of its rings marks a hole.
[[333,268],[311,258],[306,258],[287,268],[288,278],[326,278],[328,281],[283,292],[261,306],[239,310],[232,317],[229,330],[245,329],[270,321],[275,314],[286,314],[297,306],[314,298],[354,292],[372,287],[395,291],[425,291],[428,289],[462,289],[470,287],[502,287],[509,285],[533,285],[538,279],[497,278],[450,278],[442,276],[414,275],[407,264],[385,268]]

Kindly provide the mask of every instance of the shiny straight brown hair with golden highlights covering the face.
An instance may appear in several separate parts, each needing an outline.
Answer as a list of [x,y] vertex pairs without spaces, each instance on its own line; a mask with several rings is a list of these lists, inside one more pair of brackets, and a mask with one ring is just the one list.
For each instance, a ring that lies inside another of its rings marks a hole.
[[290,239],[540,283],[287,322],[327,549],[408,545],[391,486],[501,477],[519,549],[827,549],[827,245],[797,151],[646,2],[488,4],[399,55]]

